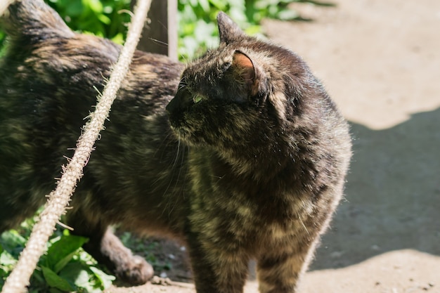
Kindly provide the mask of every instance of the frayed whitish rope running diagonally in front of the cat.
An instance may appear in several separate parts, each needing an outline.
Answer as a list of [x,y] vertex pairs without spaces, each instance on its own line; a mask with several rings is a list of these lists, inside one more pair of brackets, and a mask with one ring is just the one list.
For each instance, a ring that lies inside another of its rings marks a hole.
[[[2,2],[4,0],[1,0]],[[12,1],[11,1],[12,2]],[[6,279],[2,293],[25,292],[29,285],[30,276],[37,266],[41,254],[46,249],[46,242],[55,230],[55,225],[60,216],[65,213],[70,196],[75,189],[77,181],[82,177],[84,166],[89,160],[93,144],[98,138],[99,131],[103,129],[105,119],[108,117],[111,105],[120,85],[129,70],[131,58],[133,57],[138,40],[141,37],[143,23],[150,9],[151,0],[138,0],[134,9],[134,17],[131,20],[127,41],[119,54],[119,59],[112,70],[110,80],[105,86],[103,95],[98,97],[98,104],[91,119],[84,126],[84,133],[79,137],[77,150],[72,160],[66,167],[63,166],[63,176],[58,182],[56,190],[48,195],[48,202],[41,212],[39,221],[32,228],[32,233],[25,249],[20,255],[13,272]],[[7,6],[6,6],[7,7]],[[0,14],[1,14],[0,10]]]

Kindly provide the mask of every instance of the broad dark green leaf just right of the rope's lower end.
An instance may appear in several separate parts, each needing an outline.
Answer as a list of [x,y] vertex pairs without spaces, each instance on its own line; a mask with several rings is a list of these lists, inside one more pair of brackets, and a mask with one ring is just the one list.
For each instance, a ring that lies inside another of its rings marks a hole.
[[76,235],[61,236],[47,251],[47,266],[58,273],[72,259],[77,249],[82,247],[87,240],[86,237]]

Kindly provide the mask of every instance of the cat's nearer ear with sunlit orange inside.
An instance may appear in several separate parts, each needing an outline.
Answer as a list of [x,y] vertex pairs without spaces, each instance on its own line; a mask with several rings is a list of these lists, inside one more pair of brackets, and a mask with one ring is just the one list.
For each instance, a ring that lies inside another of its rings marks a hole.
[[250,96],[256,96],[259,92],[259,71],[252,60],[245,53],[235,51],[232,67],[240,82],[247,85]]

